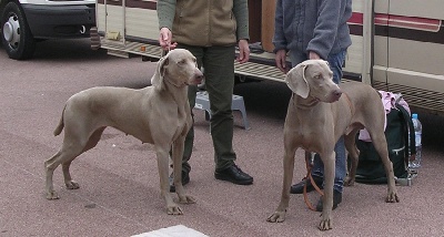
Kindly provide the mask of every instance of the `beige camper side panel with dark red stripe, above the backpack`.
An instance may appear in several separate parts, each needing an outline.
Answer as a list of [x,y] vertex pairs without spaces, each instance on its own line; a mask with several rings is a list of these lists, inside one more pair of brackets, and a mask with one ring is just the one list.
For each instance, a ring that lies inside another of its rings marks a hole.
[[391,0],[387,85],[415,106],[444,111],[444,1]]

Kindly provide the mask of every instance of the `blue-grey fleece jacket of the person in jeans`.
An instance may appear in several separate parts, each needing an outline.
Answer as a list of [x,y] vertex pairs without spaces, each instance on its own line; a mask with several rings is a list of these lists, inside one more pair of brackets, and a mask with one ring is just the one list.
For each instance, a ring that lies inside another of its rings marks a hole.
[[274,51],[314,51],[326,60],[352,44],[351,16],[352,0],[278,0]]

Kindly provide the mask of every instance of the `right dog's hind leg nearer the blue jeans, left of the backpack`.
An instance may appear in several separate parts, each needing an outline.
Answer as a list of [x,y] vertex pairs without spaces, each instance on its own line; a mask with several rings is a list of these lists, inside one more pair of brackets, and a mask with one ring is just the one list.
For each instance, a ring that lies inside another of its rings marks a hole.
[[353,186],[356,176],[360,151],[356,147],[355,138],[359,131],[360,131],[359,128],[355,128],[351,133],[344,136],[345,148],[349,152],[350,163],[351,163],[349,174],[344,182],[344,185],[346,186]]

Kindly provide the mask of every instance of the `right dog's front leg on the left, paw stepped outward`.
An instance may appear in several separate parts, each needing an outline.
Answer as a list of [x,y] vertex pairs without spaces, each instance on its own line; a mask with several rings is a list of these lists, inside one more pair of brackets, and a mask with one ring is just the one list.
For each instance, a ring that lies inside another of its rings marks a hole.
[[282,184],[281,202],[276,210],[266,219],[269,223],[282,223],[285,220],[286,208],[290,202],[290,188],[293,181],[294,171],[294,155],[296,148],[285,148],[285,155],[283,159],[284,176]]

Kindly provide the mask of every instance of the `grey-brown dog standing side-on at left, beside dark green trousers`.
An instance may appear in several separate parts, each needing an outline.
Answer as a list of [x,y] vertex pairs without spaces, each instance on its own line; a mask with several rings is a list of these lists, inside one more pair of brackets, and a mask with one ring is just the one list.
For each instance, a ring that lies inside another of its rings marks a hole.
[[181,182],[183,143],[191,127],[191,109],[188,85],[199,84],[203,79],[195,58],[188,50],[173,50],[158,62],[151,79],[153,86],[141,90],[125,87],[93,87],[72,95],[62,113],[54,135],[64,127],[62,147],[44,162],[46,192],[48,199],[58,199],[52,176],[61,164],[64,184],[69,189],[79,188],[70,175],[71,162],[94,147],[107,126],[133,135],[142,143],[154,144],[158,157],[161,195],[167,213],[181,215],[169,192],[169,152],[172,148],[174,185],[179,202],[195,203],[185,195]]

